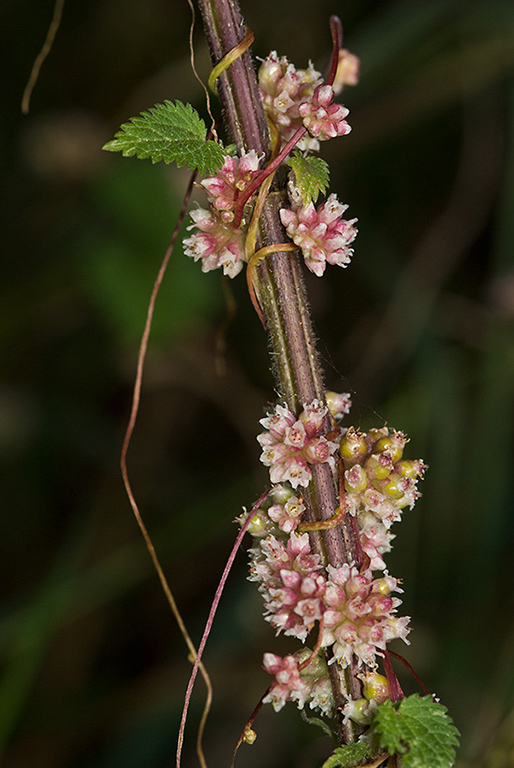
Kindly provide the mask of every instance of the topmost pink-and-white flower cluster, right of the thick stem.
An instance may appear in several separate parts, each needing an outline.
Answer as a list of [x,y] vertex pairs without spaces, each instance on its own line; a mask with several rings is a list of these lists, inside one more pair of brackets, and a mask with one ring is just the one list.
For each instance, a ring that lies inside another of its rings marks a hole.
[[302,125],[310,138],[303,138],[299,149],[317,150],[319,141],[350,132],[345,120],[348,110],[334,103],[334,89],[323,84],[321,73],[311,63],[308,69],[296,69],[273,51],[263,61],[258,77],[264,110],[284,144]]

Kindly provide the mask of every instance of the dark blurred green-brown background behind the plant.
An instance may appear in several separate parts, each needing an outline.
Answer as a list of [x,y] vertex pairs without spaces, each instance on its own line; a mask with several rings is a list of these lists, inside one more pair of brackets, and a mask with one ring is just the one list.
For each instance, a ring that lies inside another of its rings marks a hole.
[[[326,143],[331,189],[360,234],[350,268],[308,275],[327,385],[351,423],[406,431],[430,466],[397,525],[404,653],[463,733],[459,765],[514,765],[514,4],[500,0],[246,0],[255,55],[323,68],[328,18],[361,57],[342,100],[353,132]],[[185,0],[67,0],[20,101],[52,0],[4,0],[0,128],[2,613],[0,763],[173,763],[190,664],[118,468],[139,338],[187,173],[101,151],[164,99],[205,114]],[[199,70],[208,57],[196,29]],[[156,311],[129,453],[136,496],[198,642],[236,533],[267,484],[255,435],[276,393],[243,276],[226,332],[220,275],[177,248]],[[220,363],[224,374],[219,375]],[[241,554],[205,656],[206,736],[227,766],[287,653]],[[408,693],[415,684],[403,672]],[[184,765],[196,765],[192,704]],[[509,720],[510,718],[510,720]],[[240,766],[320,766],[330,742],[293,705],[256,722]]]

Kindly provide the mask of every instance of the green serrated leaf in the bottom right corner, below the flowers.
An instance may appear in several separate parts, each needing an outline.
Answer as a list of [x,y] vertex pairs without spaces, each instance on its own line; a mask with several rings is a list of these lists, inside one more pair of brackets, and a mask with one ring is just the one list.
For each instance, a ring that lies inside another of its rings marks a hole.
[[401,702],[381,704],[371,727],[380,746],[402,756],[404,768],[451,768],[459,732],[446,707],[432,696],[414,694]]

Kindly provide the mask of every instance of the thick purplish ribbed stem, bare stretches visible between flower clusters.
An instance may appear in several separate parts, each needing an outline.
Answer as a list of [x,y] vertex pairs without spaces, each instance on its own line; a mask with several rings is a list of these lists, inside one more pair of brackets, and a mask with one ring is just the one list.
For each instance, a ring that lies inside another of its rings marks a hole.
[[[246,29],[237,0],[198,0],[198,5],[215,66],[241,42]],[[339,46],[337,26],[335,21],[331,21],[332,35]],[[332,79],[334,66],[331,67]],[[268,126],[249,51],[224,69],[217,79],[217,87],[230,140],[240,149],[253,149],[265,161],[269,160]],[[279,217],[280,208],[286,204],[284,192],[274,181],[259,220],[259,248],[287,241]],[[324,401],[325,396],[323,372],[298,254],[284,251],[271,253],[257,265],[253,279],[269,333],[280,397],[289,410],[298,414],[306,403],[315,398]],[[331,426],[328,418],[325,426],[328,432]],[[328,464],[313,466],[312,475],[312,481],[303,495],[307,517],[311,521],[330,519],[339,507],[337,482]],[[313,549],[327,565],[339,567],[356,560],[354,532],[346,518],[337,527],[314,531],[309,535]],[[357,679],[350,678],[345,682],[342,675],[331,676],[338,707],[344,705],[345,695],[355,695],[358,691]],[[339,728],[341,741],[354,741],[351,723],[344,724],[341,718]]]

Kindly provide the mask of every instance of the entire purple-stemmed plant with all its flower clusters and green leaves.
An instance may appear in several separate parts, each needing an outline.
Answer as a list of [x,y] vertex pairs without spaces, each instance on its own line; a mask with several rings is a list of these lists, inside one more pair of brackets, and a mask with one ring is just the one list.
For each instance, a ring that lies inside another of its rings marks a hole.
[[264,655],[272,682],[262,703],[318,710],[339,743],[326,768],[362,761],[448,768],[456,729],[432,696],[404,697],[387,649],[406,640],[409,619],[397,614],[401,590],[384,556],[391,525],[419,496],[425,465],[403,457],[400,432],[342,425],[349,396],[325,392],[301,276],[300,256],[321,277],[327,264],[346,267],[353,254],[356,219],[344,218],[348,206],[334,193],[317,205],[329,170],[313,153],[351,130],[335,96],[356,83],[358,60],[342,49],[333,17],[325,80],[275,52],[257,78],[237,4],[199,5],[233,144],[209,140],[190,105],[167,101],[123,125],[105,148],[205,176],[208,207],[191,212],[185,253],[204,272],[221,268],[231,278],[246,264],[269,333],[280,400],[258,440],[272,489],[240,518],[240,535],[248,530],[254,540],[250,579],[266,620],[302,647],[284,658]]

